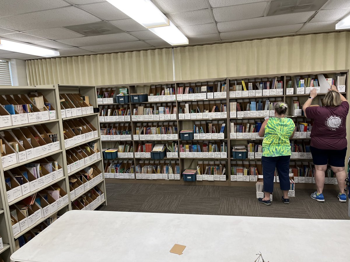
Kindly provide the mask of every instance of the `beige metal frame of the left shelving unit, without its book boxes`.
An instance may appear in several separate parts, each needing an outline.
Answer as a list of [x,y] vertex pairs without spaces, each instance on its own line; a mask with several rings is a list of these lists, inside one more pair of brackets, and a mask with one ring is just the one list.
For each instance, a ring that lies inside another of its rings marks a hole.
[[[45,221],[47,218],[55,215],[55,214],[63,214],[68,210],[72,209],[71,205],[71,196],[70,196],[70,190],[69,190],[69,174],[67,169],[67,162],[66,162],[66,149],[74,148],[75,146],[81,146],[85,143],[89,143],[91,141],[97,141],[98,142],[98,148],[101,149],[101,143],[100,143],[100,132],[99,132],[99,121],[98,121],[98,113],[93,114],[86,114],[83,117],[88,118],[90,123],[94,125],[94,127],[97,129],[98,137],[95,137],[93,139],[86,140],[82,143],[78,143],[74,146],[70,146],[65,148],[64,144],[64,135],[63,135],[63,121],[69,120],[69,119],[77,119],[82,116],[76,116],[76,117],[69,117],[62,119],[60,108],[60,101],[59,101],[59,92],[65,92],[65,93],[81,93],[82,95],[88,95],[91,101],[91,104],[93,107],[97,107],[97,100],[96,100],[96,88],[95,87],[67,87],[67,86],[59,86],[59,85],[45,85],[45,86],[26,86],[26,87],[0,87],[1,94],[3,95],[16,95],[16,94],[28,94],[31,92],[38,92],[41,93],[45,99],[47,99],[52,107],[54,107],[55,110],[55,119],[49,119],[46,121],[40,121],[40,122],[34,122],[34,123],[26,123],[21,125],[14,125],[14,126],[5,126],[1,127],[0,131],[7,131],[7,130],[14,130],[14,129],[21,129],[26,128],[30,126],[40,125],[44,124],[47,125],[50,131],[57,133],[57,137],[59,140],[59,150],[51,151],[47,154],[37,156],[35,158],[31,158],[30,160],[25,160],[20,163],[15,163],[10,166],[3,167],[2,163],[0,163],[0,237],[2,238],[3,242],[3,248],[0,249],[0,256],[1,258],[8,262],[10,261],[10,255],[16,250],[15,240],[25,234],[26,232],[29,232],[31,229],[36,227],[38,224]],[[53,117],[52,117],[53,118]],[[8,201],[8,196],[6,194],[6,183],[4,178],[4,171],[10,170],[12,168],[20,167],[22,165],[25,165],[26,163],[33,163],[33,162],[40,162],[41,159],[50,157],[53,160],[56,160],[58,162],[58,165],[62,167],[62,170],[59,169],[59,172],[63,176],[59,176],[57,179],[53,179],[52,181],[46,183],[45,185],[38,187],[30,192],[27,192],[26,194],[16,197],[10,201]],[[96,161],[93,162],[94,164],[98,165],[99,168],[102,170],[103,173],[103,162],[102,157]],[[92,165],[91,163],[90,165]],[[87,165],[89,166],[89,165]],[[77,170],[76,170],[77,172]],[[103,174],[102,174],[103,177]],[[40,219],[36,220],[34,224],[31,224],[30,226],[23,228],[20,232],[17,232],[15,235],[13,233],[13,228],[11,224],[11,218],[10,218],[10,212],[9,208],[10,206],[22,201],[28,196],[33,195],[36,192],[41,191],[42,189],[48,188],[51,185],[56,184],[59,185],[66,193],[66,196],[62,196],[62,203],[59,205],[57,210],[54,212],[48,214],[45,217],[41,217]],[[99,187],[102,189],[102,191],[105,193],[105,181],[104,177],[102,181],[99,181],[96,183],[96,185],[99,185]],[[88,190],[84,190],[86,192]],[[81,194],[83,195],[83,194]],[[64,198],[64,202],[63,202]],[[77,197],[74,196],[76,199]],[[96,209],[99,205],[105,205],[105,194],[104,199],[98,204],[95,205],[93,209]]]

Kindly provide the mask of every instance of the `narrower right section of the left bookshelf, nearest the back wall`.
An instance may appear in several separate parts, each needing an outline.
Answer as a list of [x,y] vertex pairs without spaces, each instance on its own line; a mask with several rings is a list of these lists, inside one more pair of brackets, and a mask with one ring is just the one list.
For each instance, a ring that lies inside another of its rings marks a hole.
[[61,102],[61,116],[70,208],[95,210],[107,204],[96,87],[58,85],[58,92],[68,101]]

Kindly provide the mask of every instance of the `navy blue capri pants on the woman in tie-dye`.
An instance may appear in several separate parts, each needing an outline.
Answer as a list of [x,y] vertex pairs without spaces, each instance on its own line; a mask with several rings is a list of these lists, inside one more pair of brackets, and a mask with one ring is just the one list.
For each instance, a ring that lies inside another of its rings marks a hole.
[[282,155],[280,157],[261,157],[265,192],[273,192],[273,178],[276,169],[280,179],[281,190],[290,189],[289,160],[290,155]]

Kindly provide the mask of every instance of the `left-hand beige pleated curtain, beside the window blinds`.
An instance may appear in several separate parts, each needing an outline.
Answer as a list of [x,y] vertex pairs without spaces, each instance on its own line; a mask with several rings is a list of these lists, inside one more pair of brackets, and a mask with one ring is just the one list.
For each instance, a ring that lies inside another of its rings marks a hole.
[[173,81],[172,49],[27,60],[29,85]]

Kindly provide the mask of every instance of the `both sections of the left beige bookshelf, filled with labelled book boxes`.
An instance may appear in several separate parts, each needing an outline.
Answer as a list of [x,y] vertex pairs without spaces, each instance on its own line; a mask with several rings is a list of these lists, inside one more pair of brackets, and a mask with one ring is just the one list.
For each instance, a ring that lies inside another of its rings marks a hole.
[[[106,204],[106,200],[98,113],[93,113],[97,107],[96,88],[47,85],[0,87],[0,90],[0,256],[10,261],[10,255],[19,245],[24,245],[64,212],[74,209],[72,201],[89,193],[89,205],[80,209],[94,210]],[[71,102],[70,107],[64,108],[66,104],[60,103],[62,94]],[[89,96],[89,105],[77,104],[80,99],[73,94]],[[67,116],[67,111],[71,115]],[[79,135],[68,136],[64,132],[67,124],[73,125],[72,129],[84,124],[88,127],[79,130]],[[86,155],[86,165],[85,159],[79,159],[79,164],[84,161],[84,165],[68,172],[77,163],[68,163],[67,156],[91,142],[96,143],[97,150]],[[93,173],[78,189],[80,195],[75,195],[70,176],[77,176],[79,170],[89,166],[94,167]],[[31,200],[34,203],[28,206]]]

